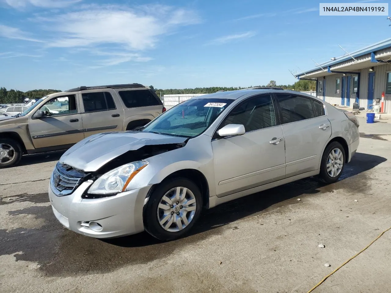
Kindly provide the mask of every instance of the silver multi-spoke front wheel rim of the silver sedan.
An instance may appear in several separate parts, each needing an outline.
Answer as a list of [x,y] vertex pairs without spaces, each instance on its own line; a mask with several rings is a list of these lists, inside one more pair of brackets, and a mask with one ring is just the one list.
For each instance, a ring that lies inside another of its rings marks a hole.
[[159,224],[168,232],[183,230],[193,220],[196,208],[195,196],[190,189],[172,188],[159,202]]

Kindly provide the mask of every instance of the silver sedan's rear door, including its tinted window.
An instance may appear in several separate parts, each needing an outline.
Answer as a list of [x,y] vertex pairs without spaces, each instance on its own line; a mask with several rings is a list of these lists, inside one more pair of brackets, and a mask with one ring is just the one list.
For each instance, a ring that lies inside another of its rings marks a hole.
[[276,94],[285,135],[287,177],[317,170],[331,136],[323,103],[295,94]]

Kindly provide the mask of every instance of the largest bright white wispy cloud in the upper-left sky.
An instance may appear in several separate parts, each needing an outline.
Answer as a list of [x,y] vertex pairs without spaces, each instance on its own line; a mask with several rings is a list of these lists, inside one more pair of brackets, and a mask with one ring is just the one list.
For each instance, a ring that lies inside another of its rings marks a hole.
[[177,27],[198,23],[194,12],[164,5],[127,9],[93,5],[90,9],[39,18],[56,30],[53,47],[86,47],[102,44],[122,45],[127,50],[153,48],[158,37]]

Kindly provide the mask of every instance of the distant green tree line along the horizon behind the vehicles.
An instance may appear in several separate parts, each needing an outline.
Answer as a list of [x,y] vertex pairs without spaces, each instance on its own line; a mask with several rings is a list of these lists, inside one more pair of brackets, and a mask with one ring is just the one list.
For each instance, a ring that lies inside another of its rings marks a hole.
[[[263,85],[264,86],[264,85]],[[277,85],[275,80],[271,80],[266,86],[275,86],[283,89],[294,89],[295,91],[315,91],[316,90],[316,81],[315,80],[298,80],[294,84],[280,84]],[[208,94],[215,93],[217,91],[236,91],[238,89],[252,88],[254,86],[248,87],[226,87],[226,86],[212,86],[207,88],[185,88],[185,89],[155,89],[153,86],[149,86],[153,89],[159,96],[161,95],[178,95],[178,94]],[[59,93],[60,90],[57,89],[34,89],[32,91],[18,91],[16,89],[7,90],[6,88],[0,88],[0,104],[16,104],[23,103],[25,98],[35,99],[42,98],[51,93]]]

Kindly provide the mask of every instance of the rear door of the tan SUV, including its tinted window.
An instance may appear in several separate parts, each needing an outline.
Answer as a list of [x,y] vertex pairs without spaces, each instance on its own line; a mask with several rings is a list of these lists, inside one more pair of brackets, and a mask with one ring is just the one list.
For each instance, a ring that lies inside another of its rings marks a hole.
[[124,109],[112,89],[82,91],[80,95],[84,109],[81,118],[85,138],[100,132],[122,130]]

